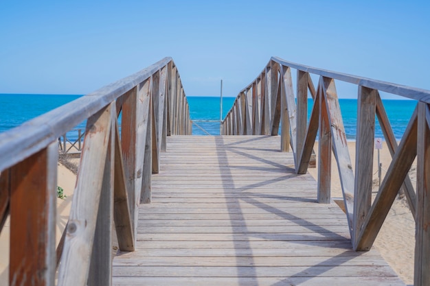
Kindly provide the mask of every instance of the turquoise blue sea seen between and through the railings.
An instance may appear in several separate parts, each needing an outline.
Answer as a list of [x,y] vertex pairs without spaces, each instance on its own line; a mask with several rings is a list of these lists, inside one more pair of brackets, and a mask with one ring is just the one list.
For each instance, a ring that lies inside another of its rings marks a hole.
[[[38,115],[67,104],[82,95],[43,95],[43,94],[7,94],[0,93],[0,132],[5,132],[21,125]],[[220,134],[220,98],[187,97],[190,105],[190,116],[194,124],[193,135]],[[234,103],[235,97],[223,97],[223,117]],[[312,110],[312,99],[308,102],[308,115]],[[357,99],[339,99],[345,132],[349,141],[355,140],[357,130]],[[383,99],[387,116],[392,125],[394,136],[400,140],[407,123],[416,107],[413,100]],[[71,140],[78,138],[77,129],[85,128],[85,122],[67,133]],[[375,137],[383,138],[383,133],[376,123]],[[0,142],[1,143],[1,142]]]

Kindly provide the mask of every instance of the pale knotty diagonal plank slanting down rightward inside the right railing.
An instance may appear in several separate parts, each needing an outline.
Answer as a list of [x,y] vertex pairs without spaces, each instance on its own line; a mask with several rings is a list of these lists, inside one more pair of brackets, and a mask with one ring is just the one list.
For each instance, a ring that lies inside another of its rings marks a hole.
[[343,193],[343,203],[346,207],[346,215],[352,231],[352,217],[354,211],[354,173],[348,142],[346,141],[345,127],[343,126],[342,114],[339,106],[339,99],[335,81],[330,78],[322,78],[323,92],[327,101],[328,118],[330,120],[332,132],[332,149],[335,154],[337,169]]

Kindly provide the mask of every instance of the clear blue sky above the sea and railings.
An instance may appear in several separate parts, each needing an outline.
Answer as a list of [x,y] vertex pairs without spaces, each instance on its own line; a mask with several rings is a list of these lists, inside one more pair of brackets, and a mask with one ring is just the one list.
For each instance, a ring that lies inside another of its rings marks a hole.
[[165,56],[187,95],[223,79],[236,96],[271,56],[430,89],[429,15],[429,1],[1,1],[0,93],[85,94]]

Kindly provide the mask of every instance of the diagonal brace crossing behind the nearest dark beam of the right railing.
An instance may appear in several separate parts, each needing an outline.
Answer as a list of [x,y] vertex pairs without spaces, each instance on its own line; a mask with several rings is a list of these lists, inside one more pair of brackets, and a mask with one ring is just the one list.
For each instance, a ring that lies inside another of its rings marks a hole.
[[[379,96],[378,91],[376,91],[376,116],[378,117],[379,126],[381,126],[381,130],[384,134],[385,142],[387,143],[389,153],[393,158],[398,145],[392,127],[389,124],[388,116],[385,112],[385,108],[383,106],[383,102],[381,100],[381,96]],[[400,190],[405,193],[409,209],[411,210],[411,213],[416,221],[416,193],[414,191],[414,186],[411,183],[409,175],[406,176],[405,182],[403,182]]]

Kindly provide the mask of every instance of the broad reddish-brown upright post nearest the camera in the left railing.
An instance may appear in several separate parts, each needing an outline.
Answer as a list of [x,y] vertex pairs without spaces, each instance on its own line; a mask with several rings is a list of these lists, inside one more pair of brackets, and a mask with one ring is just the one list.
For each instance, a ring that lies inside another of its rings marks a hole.
[[10,169],[9,285],[55,285],[58,143]]

